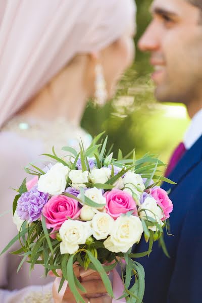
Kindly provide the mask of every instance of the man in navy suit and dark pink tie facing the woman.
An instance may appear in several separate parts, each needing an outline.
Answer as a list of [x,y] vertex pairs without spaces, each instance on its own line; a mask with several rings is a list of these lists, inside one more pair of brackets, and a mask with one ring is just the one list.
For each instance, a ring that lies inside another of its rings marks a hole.
[[[154,0],[153,20],[139,41],[150,52],[155,95],[182,102],[191,124],[168,166],[174,211],[165,235],[167,258],[155,242],[145,269],[144,303],[202,302],[202,0]],[[173,109],[173,111],[175,108]],[[172,134],[171,134],[172,135]],[[133,252],[147,250],[144,239]]]

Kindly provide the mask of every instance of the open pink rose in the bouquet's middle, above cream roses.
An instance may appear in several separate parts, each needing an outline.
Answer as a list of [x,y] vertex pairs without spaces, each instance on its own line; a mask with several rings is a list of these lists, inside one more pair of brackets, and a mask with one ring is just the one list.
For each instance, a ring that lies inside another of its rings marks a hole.
[[133,214],[137,215],[135,201],[128,192],[120,189],[112,189],[112,191],[107,191],[104,196],[107,201],[107,213],[114,219],[117,219],[122,214],[126,214],[129,211],[134,211]]

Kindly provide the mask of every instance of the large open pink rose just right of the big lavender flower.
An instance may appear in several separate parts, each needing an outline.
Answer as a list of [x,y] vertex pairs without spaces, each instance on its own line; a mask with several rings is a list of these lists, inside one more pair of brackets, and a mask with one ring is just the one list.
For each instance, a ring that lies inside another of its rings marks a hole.
[[77,219],[80,215],[78,201],[65,195],[56,195],[51,197],[44,205],[42,214],[45,217],[47,228],[58,230],[61,225],[68,220]]

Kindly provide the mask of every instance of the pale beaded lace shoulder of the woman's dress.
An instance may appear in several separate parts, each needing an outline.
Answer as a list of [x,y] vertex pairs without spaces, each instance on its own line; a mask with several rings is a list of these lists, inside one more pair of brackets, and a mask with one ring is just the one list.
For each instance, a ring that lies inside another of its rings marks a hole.
[[44,153],[51,153],[54,146],[61,157],[67,154],[61,150],[63,146],[71,146],[78,150],[80,139],[85,147],[90,145],[92,140],[90,134],[81,127],[74,126],[65,118],[57,118],[49,122],[33,118],[26,119],[19,115],[11,119],[1,131],[12,131],[22,137],[41,141]]

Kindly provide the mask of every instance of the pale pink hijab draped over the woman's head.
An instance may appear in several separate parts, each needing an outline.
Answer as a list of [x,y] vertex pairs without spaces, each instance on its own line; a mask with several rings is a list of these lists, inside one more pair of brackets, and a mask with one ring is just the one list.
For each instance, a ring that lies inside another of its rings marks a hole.
[[134,0],[1,0],[0,128],[77,53],[108,46]]

